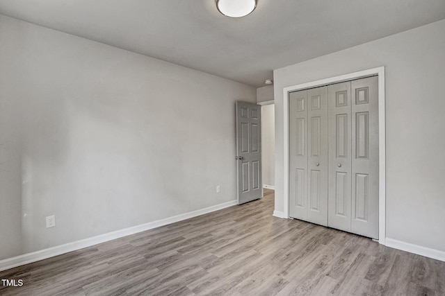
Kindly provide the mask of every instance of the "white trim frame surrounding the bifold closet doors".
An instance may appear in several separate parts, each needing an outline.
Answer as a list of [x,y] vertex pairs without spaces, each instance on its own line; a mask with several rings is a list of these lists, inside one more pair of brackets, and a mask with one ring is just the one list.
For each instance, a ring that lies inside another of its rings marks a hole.
[[284,218],[289,218],[289,92],[301,89],[330,85],[332,83],[364,78],[378,75],[378,193],[379,193],[379,218],[378,218],[378,242],[385,245],[386,238],[386,137],[385,137],[385,67],[378,67],[348,73],[341,76],[325,78],[312,82],[292,85],[283,88],[284,109]]

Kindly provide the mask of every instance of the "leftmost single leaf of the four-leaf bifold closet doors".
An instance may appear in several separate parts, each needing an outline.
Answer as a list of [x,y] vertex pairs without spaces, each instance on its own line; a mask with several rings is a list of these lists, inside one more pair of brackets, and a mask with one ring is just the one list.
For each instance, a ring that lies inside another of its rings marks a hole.
[[307,220],[307,91],[289,94],[289,215]]

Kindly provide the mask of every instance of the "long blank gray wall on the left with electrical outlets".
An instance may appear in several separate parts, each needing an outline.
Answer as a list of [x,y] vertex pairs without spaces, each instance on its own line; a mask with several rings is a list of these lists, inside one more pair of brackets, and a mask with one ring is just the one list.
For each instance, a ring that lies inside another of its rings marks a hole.
[[0,44],[0,259],[236,200],[253,87],[3,16]]

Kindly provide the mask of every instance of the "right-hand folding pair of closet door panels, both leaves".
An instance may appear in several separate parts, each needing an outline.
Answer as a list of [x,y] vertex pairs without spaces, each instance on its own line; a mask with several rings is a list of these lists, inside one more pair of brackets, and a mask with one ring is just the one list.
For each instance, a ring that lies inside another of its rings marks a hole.
[[378,238],[378,78],[327,87],[329,227]]

